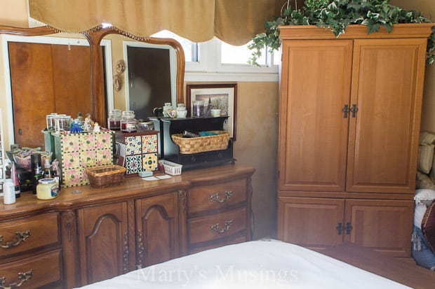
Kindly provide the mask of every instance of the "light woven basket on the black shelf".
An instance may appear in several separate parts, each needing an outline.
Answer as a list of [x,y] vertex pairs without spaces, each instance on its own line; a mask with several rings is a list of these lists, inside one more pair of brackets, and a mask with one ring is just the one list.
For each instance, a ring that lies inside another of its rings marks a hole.
[[172,141],[180,147],[180,153],[203,153],[210,150],[225,150],[228,147],[229,134],[225,131],[213,130],[215,136],[199,136],[187,138],[182,134],[172,134]]

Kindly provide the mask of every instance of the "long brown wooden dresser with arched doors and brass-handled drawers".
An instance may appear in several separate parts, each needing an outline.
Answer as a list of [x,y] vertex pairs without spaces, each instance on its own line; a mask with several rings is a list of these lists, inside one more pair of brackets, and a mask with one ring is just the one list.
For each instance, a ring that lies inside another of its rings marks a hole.
[[0,286],[73,288],[250,240],[254,169],[224,165],[161,181],[23,192],[0,205]]

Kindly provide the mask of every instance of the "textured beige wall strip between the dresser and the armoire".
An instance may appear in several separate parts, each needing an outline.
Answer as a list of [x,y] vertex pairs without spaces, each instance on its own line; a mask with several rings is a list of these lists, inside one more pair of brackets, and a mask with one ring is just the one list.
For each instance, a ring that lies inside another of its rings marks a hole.
[[255,167],[254,238],[275,237],[278,83],[237,83],[237,164]]

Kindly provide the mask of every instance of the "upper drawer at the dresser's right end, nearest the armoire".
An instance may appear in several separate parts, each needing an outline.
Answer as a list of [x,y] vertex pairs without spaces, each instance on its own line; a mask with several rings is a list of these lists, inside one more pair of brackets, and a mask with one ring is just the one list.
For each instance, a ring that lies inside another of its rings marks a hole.
[[246,179],[189,190],[188,213],[225,209],[246,202]]

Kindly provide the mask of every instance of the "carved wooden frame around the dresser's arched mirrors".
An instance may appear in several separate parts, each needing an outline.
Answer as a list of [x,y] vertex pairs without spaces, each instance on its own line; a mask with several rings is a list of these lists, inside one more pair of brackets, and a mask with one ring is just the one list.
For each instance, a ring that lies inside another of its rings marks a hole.
[[[1,26],[0,34],[10,34],[18,36],[44,36],[50,34],[61,33],[53,27],[33,27],[21,28],[12,26]],[[91,48],[91,107],[93,118],[107,127],[106,115],[106,97],[105,97],[105,80],[104,80],[104,65],[102,54],[100,54],[100,43],[102,39],[109,34],[119,34],[135,41],[151,43],[156,45],[170,45],[177,55],[177,77],[176,77],[176,99],[177,103],[184,103],[184,81],[185,81],[185,53],[178,41],[172,38],[156,38],[156,37],[137,37],[128,34],[125,31],[120,31],[114,27],[102,27],[99,29],[91,29],[90,31],[81,32],[89,42]],[[9,136],[11,139],[11,136]]]

